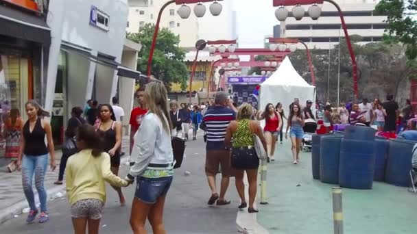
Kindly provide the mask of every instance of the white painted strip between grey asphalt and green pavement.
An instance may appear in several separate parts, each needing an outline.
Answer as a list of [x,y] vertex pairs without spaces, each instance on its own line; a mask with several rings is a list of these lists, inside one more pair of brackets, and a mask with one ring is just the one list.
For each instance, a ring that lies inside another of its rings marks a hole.
[[[249,198],[248,193],[248,178],[243,177],[245,183],[245,197]],[[257,206],[257,199],[255,200],[255,207]],[[258,224],[257,213],[248,213],[248,209],[237,211],[236,226],[239,233],[246,234],[269,234],[269,231]]]

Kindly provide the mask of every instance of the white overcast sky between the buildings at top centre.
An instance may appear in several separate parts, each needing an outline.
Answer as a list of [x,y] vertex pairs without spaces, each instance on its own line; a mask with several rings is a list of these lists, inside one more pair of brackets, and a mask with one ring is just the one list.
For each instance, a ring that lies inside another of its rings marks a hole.
[[234,0],[239,47],[263,47],[263,37],[273,34],[278,24],[272,0]]

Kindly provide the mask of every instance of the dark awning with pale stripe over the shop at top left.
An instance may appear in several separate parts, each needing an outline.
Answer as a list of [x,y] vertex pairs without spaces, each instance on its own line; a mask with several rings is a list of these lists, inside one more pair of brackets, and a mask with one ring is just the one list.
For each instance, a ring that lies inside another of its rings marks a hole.
[[43,18],[0,5],[0,34],[41,44],[51,43],[51,29]]

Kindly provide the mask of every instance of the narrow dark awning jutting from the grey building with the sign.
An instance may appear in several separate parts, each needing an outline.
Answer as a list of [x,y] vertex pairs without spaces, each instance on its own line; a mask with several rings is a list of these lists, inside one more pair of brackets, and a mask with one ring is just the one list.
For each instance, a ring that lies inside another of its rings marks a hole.
[[130,68],[126,68],[125,66],[122,66],[118,62],[115,62],[114,60],[110,60],[106,57],[95,56],[95,55],[92,55],[91,53],[88,53],[87,51],[81,51],[73,47],[66,46],[64,44],[61,45],[61,50],[68,52],[68,53],[76,53],[78,55],[87,57],[88,60],[90,60],[91,62],[95,62],[97,64],[101,64],[103,66],[108,66],[109,68],[113,68],[117,70],[117,75],[121,77],[128,77],[132,79],[143,79],[143,76],[141,76],[142,74],[141,72],[137,70],[132,70]]

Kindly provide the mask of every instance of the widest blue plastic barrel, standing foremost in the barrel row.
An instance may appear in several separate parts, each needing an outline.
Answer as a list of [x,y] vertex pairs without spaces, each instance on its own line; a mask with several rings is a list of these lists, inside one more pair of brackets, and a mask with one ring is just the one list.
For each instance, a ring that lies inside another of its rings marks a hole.
[[[373,138],[372,138],[373,139]],[[339,161],[339,185],[370,190],[374,181],[374,140],[342,140]]]

